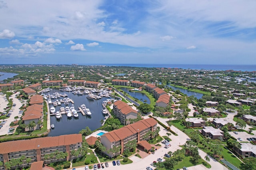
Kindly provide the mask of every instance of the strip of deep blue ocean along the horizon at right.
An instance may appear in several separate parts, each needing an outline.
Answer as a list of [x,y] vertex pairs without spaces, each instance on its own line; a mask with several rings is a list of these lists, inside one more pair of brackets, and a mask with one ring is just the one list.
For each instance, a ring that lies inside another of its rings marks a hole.
[[105,66],[132,66],[148,68],[183,68],[193,70],[236,70],[256,71],[256,65],[229,65],[229,64],[80,64],[80,65],[105,65]]

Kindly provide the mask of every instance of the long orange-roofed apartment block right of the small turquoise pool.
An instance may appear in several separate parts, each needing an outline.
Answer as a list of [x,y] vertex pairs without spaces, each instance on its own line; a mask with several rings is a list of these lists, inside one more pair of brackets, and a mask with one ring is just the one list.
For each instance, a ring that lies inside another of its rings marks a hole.
[[[156,127],[157,121],[154,118],[149,118],[105,133],[100,137],[100,142],[106,147],[106,151],[104,153],[110,157],[122,154],[126,149],[126,143],[132,140],[136,140],[137,142],[143,141],[144,135],[146,135],[148,131],[156,131]],[[112,149],[114,146],[121,146],[120,152],[108,153],[107,151]]]

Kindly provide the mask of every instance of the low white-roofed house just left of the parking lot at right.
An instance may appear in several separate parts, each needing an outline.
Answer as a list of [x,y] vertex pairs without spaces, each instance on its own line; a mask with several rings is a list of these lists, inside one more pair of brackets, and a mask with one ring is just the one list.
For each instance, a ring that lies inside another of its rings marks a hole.
[[220,137],[223,139],[224,137],[223,131],[221,131],[220,129],[215,129],[212,126],[204,126],[201,133],[204,137],[209,137],[211,139],[219,139]]

